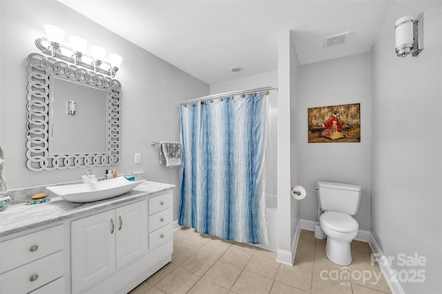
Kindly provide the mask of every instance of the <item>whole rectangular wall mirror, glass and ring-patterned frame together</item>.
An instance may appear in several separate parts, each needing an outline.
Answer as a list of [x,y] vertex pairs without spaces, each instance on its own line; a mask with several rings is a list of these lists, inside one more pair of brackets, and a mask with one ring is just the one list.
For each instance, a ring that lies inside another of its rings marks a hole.
[[55,170],[119,163],[121,84],[28,55],[26,166]]

